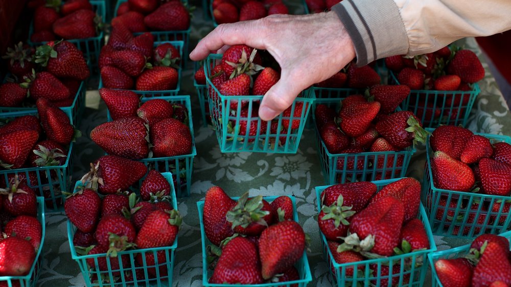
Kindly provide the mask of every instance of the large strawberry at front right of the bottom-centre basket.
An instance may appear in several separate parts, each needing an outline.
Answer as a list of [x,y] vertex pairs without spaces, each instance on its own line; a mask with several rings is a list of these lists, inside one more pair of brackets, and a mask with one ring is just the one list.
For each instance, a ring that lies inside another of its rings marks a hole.
[[263,278],[269,279],[291,268],[304,250],[305,233],[298,223],[286,220],[264,229],[259,238]]

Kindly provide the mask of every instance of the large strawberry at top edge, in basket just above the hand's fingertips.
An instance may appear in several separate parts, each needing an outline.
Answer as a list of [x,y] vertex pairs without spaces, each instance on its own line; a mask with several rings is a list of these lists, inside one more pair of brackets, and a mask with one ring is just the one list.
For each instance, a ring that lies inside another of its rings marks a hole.
[[144,23],[156,31],[184,31],[190,27],[190,13],[180,1],[171,1],[147,15]]

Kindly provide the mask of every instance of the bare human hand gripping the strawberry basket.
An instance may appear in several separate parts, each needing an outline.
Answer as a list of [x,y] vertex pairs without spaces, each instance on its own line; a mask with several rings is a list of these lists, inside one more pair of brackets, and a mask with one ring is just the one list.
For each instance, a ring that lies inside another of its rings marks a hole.
[[331,77],[355,58],[353,42],[335,12],[271,15],[258,20],[221,24],[190,54],[200,61],[226,45],[266,49],[281,66],[281,79],[264,95],[262,120],[290,107],[301,91]]

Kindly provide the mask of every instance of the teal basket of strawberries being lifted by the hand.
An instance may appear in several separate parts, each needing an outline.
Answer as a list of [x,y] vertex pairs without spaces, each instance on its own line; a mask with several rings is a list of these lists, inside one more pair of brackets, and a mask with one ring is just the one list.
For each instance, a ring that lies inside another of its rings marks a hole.
[[314,92],[301,92],[282,114],[271,121],[261,120],[259,103],[280,75],[269,67],[272,59],[268,59],[268,67],[261,66],[267,55],[261,57],[259,53],[246,45],[234,45],[223,55],[208,56],[204,63],[210,114],[220,150],[295,153]]

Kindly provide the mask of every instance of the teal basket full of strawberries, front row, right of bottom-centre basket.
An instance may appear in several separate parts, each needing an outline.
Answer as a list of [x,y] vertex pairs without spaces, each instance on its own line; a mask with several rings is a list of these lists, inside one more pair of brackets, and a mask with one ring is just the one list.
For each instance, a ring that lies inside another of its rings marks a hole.
[[338,286],[423,285],[436,247],[420,194],[409,177],[316,187],[321,242]]

